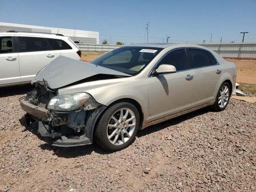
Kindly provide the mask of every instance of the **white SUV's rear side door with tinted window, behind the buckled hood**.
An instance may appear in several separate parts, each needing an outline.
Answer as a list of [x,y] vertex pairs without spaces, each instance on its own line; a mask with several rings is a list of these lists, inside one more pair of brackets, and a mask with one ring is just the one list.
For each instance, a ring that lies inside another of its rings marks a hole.
[[18,36],[21,81],[30,81],[36,73],[56,58],[45,38]]

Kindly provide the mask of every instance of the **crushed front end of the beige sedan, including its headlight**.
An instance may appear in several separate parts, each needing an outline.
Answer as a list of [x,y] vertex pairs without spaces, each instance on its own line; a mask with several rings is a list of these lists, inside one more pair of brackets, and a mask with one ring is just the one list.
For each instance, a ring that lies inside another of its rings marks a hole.
[[88,93],[58,95],[58,90],[36,83],[35,88],[20,98],[26,114],[20,123],[27,127],[38,121],[41,136],[54,138],[54,146],[92,144],[93,128],[106,106]]

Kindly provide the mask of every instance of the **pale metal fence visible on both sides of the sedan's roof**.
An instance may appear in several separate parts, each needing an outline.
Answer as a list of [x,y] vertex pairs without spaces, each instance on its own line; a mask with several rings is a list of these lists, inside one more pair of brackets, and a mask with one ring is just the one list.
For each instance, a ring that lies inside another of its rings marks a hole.
[[[77,44],[81,51],[110,51],[122,45]],[[256,58],[256,43],[205,43],[209,48],[226,58]]]

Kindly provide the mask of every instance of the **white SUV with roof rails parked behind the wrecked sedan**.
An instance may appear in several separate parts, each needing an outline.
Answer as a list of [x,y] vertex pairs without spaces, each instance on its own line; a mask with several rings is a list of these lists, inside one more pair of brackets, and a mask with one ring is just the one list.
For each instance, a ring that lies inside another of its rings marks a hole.
[[0,33],[0,87],[30,83],[59,55],[81,60],[80,49],[61,34]]

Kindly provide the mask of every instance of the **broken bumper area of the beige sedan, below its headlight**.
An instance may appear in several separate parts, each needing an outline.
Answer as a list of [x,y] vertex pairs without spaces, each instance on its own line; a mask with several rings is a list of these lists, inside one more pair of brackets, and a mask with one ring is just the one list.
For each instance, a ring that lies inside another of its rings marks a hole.
[[[106,108],[99,105],[93,110],[55,113],[35,106],[24,98],[20,100],[20,106],[27,112],[20,119],[22,126],[28,127],[31,122],[38,121],[40,135],[56,139],[52,145],[62,147],[92,144],[96,121]],[[78,132],[77,128],[80,124],[83,128]]]

